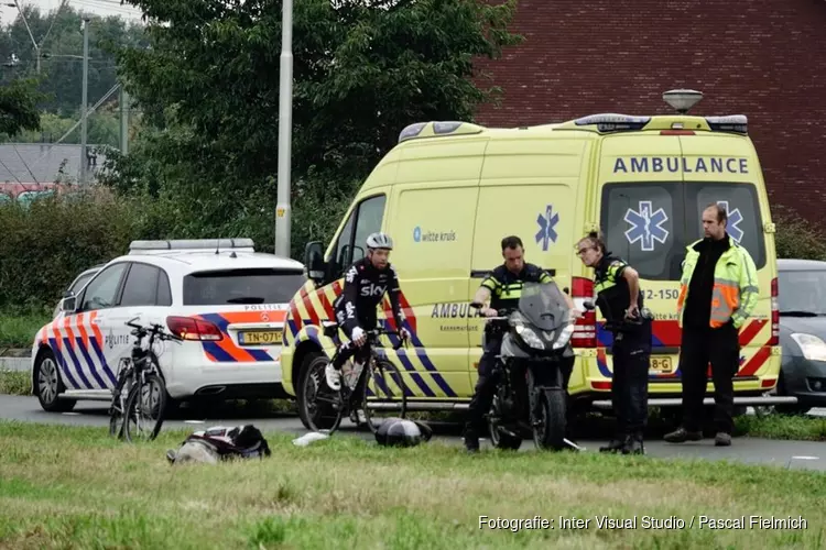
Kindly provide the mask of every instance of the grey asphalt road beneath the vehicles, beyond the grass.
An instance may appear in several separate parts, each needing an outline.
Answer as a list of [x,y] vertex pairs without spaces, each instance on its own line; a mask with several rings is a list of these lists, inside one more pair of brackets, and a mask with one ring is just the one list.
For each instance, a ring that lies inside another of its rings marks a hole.
[[[108,429],[109,417],[106,414],[107,404],[102,402],[79,402],[72,413],[56,414],[41,409],[36,397],[0,395],[0,418],[28,422],[63,424],[74,426],[99,426]],[[198,430],[207,426],[238,426],[254,424],[264,431],[284,431],[296,437],[307,432],[301,420],[292,414],[271,414],[264,418],[243,418],[227,414],[211,418],[187,418],[186,409],[182,409],[175,417],[164,421],[165,428],[185,428]],[[434,441],[447,444],[461,444],[460,429],[456,425],[434,425]],[[345,420],[337,435],[372,439],[367,431],[358,431]],[[335,437],[335,436],[334,436]],[[577,441],[584,452],[597,452],[602,439],[582,439]],[[482,448],[489,448],[488,441],[482,441]],[[534,450],[531,441],[522,444],[522,450]],[[786,469],[807,469],[826,472],[826,444],[815,441],[779,441],[758,438],[736,438],[729,448],[714,447],[713,439],[683,444],[671,444],[662,440],[645,442],[646,454],[656,458],[683,458],[704,460],[729,460],[752,464],[774,465]]]

